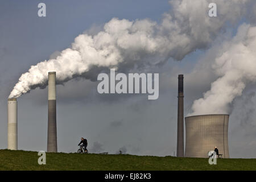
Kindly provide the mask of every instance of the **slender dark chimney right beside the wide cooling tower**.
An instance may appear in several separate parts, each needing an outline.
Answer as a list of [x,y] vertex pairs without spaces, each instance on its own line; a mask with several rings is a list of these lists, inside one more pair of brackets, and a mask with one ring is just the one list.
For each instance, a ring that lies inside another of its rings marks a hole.
[[177,157],[184,156],[184,94],[183,75],[178,77],[178,109],[177,109]]

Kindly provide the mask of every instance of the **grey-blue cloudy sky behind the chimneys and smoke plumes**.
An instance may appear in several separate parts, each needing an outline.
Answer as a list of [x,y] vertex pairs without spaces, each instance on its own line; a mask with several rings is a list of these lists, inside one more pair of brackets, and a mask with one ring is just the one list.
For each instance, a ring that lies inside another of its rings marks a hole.
[[[46,18],[37,15],[40,2],[46,3]],[[159,22],[170,9],[168,1],[148,0],[1,1],[0,148],[7,148],[7,97],[31,65],[68,48],[82,32],[97,32],[113,17]],[[230,27],[229,33],[236,32],[236,28]],[[216,45],[220,42],[221,36]],[[97,82],[82,78],[58,85],[58,150],[75,152],[80,137],[85,137],[93,152],[114,154],[123,150],[135,155],[173,155],[177,75],[184,73],[184,112],[188,114],[192,102],[202,97],[217,78],[210,69],[213,54],[214,47],[209,51],[197,50],[182,61],[169,60],[163,67],[151,68],[148,72],[159,73],[158,100],[149,101],[146,95],[100,95]],[[232,103],[229,150],[233,158],[256,157],[254,89],[253,84],[247,86],[243,96]],[[46,150],[47,89],[32,90],[18,99],[18,136],[20,150]]]

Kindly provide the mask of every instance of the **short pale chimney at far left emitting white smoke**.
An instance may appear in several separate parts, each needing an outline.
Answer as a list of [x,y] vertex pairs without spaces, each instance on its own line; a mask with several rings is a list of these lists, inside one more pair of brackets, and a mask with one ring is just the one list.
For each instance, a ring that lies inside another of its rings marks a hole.
[[8,99],[8,149],[17,150],[18,148],[18,104],[16,98]]

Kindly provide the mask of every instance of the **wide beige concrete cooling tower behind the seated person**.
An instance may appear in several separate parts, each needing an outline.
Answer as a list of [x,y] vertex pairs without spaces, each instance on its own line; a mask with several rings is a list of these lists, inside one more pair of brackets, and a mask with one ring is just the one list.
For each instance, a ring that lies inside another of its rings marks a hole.
[[228,114],[194,115],[185,118],[185,157],[208,158],[217,146],[223,158],[229,158]]

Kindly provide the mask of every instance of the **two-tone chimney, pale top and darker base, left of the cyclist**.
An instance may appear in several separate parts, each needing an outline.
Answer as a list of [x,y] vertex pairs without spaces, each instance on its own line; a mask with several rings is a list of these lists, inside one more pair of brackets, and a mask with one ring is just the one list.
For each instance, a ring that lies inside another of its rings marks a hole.
[[56,72],[48,73],[48,137],[47,152],[57,152]]

